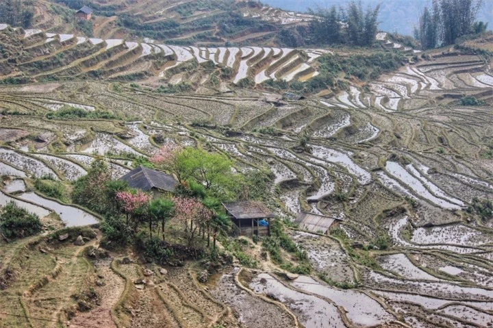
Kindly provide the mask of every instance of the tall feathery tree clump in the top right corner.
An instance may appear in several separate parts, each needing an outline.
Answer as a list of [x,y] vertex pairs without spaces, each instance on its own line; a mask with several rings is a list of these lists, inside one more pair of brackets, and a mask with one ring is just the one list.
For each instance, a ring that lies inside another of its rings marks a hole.
[[422,49],[453,45],[457,38],[486,31],[488,23],[477,22],[483,0],[433,0],[420,18],[414,37]]

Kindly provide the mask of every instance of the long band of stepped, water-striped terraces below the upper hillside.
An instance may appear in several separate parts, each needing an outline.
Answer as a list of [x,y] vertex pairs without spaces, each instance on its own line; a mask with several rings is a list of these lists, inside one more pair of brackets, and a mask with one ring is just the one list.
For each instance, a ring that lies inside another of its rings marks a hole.
[[[164,45],[151,39],[135,42],[116,38],[85,38],[73,34],[45,33],[41,29],[16,29],[15,34],[12,34],[6,27],[1,32],[10,33],[10,37],[22,40],[23,45],[29,48],[30,55],[18,65],[20,71],[10,76],[21,75],[24,72],[38,79],[53,76],[68,79],[76,75],[118,80],[134,76],[140,79],[168,78],[170,83],[177,84],[182,79],[171,77],[181,66],[192,62],[212,62],[216,66],[226,65],[233,69],[233,84],[238,84],[247,77],[251,77],[256,83],[262,83],[269,78],[306,81],[316,76],[313,60],[323,53],[330,52],[324,49],[270,47],[182,47]],[[305,55],[300,57],[296,54]],[[65,60],[59,60],[60,58]],[[309,59],[304,62],[302,58]],[[268,77],[266,72],[269,72]],[[5,75],[9,73],[11,72],[5,72]],[[2,76],[3,72],[0,73],[0,77]],[[208,79],[203,79],[197,83],[205,84],[207,81]],[[60,102],[47,104],[53,110],[63,105],[64,103]],[[94,110],[94,107],[84,109]]]

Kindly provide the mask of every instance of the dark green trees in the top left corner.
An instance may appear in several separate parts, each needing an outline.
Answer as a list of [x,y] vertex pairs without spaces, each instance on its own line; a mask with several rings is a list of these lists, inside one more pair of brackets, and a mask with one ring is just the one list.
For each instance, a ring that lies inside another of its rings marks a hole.
[[0,5],[0,23],[12,26],[30,27],[33,17],[31,0],[4,0]]

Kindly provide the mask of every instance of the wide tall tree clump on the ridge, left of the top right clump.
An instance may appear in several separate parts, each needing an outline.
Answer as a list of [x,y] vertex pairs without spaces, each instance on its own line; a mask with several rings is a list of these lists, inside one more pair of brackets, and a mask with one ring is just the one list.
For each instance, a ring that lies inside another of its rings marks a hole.
[[309,24],[312,44],[349,44],[368,47],[375,41],[380,5],[362,8],[361,2],[351,1],[346,8],[333,5],[328,10],[310,10],[318,17]]

